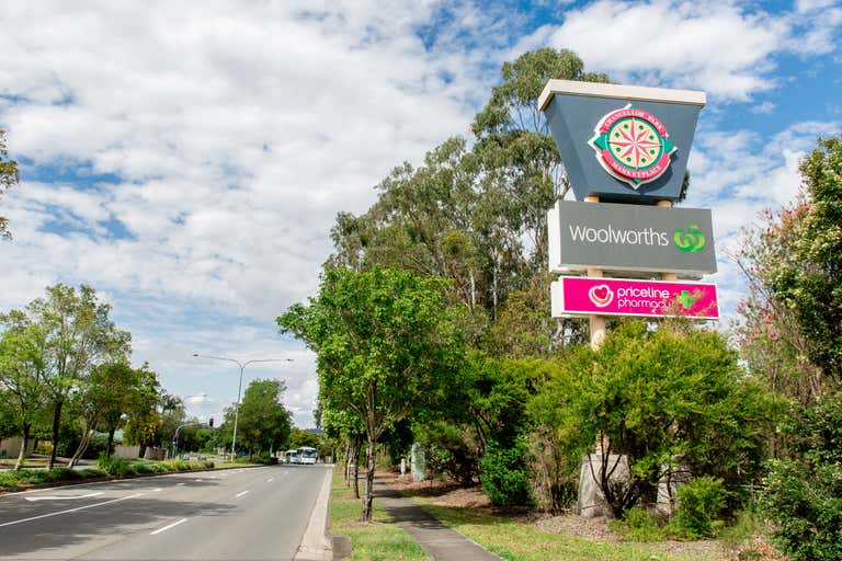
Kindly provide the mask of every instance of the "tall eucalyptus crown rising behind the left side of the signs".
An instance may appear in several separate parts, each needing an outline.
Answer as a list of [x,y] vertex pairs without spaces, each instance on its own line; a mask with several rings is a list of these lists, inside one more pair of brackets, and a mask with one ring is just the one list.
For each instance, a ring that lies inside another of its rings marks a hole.
[[[510,293],[546,271],[546,211],[567,183],[537,100],[550,78],[607,78],[584,72],[573,53],[554,49],[505,62],[501,75],[474,121],[470,148],[463,138],[447,139],[420,168],[392,170],[367,213],[337,217],[331,264],[448,278],[451,301],[493,320]],[[545,329],[554,332],[548,316]]]

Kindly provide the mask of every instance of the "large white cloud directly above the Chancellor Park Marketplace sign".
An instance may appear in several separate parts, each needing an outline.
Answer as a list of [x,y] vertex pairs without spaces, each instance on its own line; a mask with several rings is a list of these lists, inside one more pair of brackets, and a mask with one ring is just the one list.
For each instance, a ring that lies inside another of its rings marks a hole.
[[589,70],[619,81],[702,89],[744,101],[773,87],[772,55],[789,35],[787,16],[730,2],[599,0],[545,26],[517,47],[574,50]]

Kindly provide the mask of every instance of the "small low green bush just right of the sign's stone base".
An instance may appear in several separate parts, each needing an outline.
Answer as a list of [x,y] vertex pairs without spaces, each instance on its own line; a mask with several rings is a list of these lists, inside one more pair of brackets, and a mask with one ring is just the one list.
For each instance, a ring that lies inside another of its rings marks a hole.
[[696,478],[679,488],[679,507],[670,530],[687,539],[710,538],[725,526],[720,519],[728,502],[722,480]]

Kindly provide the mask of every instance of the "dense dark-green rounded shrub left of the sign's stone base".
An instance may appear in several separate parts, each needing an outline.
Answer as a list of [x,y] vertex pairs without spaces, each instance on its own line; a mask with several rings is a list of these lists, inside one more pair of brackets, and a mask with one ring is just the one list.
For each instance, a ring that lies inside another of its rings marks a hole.
[[482,491],[496,506],[532,504],[528,469],[525,466],[526,444],[515,440],[505,448],[490,442],[482,456]]

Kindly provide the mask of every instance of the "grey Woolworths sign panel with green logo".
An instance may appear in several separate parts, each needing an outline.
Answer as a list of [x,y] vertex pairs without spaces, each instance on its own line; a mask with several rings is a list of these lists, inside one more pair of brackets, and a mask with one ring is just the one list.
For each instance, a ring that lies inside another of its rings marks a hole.
[[559,201],[547,221],[551,271],[716,272],[708,209]]

